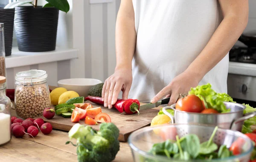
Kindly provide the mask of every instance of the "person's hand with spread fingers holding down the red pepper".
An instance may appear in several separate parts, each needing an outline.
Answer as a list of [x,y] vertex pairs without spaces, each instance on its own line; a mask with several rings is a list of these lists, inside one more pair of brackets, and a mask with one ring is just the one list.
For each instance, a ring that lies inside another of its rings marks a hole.
[[104,106],[108,109],[116,103],[119,92],[122,90],[122,99],[128,99],[131,89],[132,71],[131,69],[115,70],[115,73],[105,80],[102,88],[102,98]]

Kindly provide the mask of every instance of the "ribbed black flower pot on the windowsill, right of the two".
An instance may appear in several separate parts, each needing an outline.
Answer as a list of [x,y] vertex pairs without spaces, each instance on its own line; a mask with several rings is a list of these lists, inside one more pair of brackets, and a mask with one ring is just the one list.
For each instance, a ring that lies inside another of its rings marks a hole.
[[54,7],[15,8],[15,33],[20,51],[55,50],[59,10]]

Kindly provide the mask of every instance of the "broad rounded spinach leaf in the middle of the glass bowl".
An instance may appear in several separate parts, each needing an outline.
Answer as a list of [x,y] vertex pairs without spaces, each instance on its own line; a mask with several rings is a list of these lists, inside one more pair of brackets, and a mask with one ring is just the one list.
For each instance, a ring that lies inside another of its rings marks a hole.
[[200,152],[200,140],[197,135],[189,134],[184,136],[180,142],[183,151],[186,151],[192,158],[195,159]]

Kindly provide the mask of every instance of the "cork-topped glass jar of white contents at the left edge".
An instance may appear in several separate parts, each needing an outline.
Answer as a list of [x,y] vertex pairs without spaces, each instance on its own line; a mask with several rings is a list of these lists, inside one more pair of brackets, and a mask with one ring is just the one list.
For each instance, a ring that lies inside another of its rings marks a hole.
[[10,142],[11,124],[11,100],[6,96],[6,77],[0,76],[0,145]]

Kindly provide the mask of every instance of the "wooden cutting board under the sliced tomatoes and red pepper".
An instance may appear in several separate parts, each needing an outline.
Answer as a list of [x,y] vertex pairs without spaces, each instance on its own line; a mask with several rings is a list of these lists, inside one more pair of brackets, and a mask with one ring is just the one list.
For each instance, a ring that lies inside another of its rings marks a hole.
[[[91,103],[90,101],[86,101],[85,103]],[[157,115],[160,108],[148,109],[140,111],[140,115],[121,115],[116,109],[108,109],[103,106],[96,105],[91,103],[93,107],[101,107],[102,112],[108,113],[111,117],[111,122],[114,123],[119,128],[119,141],[126,142],[128,140],[128,136],[131,132],[149,126],[151,120]],[[143,105],[143,103],[142,103]],[[53,106],[52,106],[53,107]],[[76,123],[72,123],[70,118],[64,118],[62,116],[55,115],[52,119],[46,119],[43,116],[37,117],[42,118],[44,121],[52,124],[54,129],[69,131],[73,125]],[[84,124],[84,120],[80,120],[80,124]],[[84,124],[85,125],[85,124]],[[91,126],[95,130],[99,130],[99,125]]]

